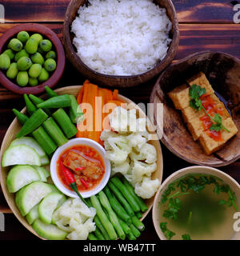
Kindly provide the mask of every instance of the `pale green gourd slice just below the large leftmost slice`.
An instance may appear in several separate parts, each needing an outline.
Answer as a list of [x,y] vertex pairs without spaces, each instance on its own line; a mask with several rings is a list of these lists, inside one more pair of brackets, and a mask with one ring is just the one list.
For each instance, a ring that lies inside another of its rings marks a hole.
[[41,177],[32,166],[14,166],[7,174],[6,186],[10,193],[15,193],[23,186],[37,181],[41,181]]

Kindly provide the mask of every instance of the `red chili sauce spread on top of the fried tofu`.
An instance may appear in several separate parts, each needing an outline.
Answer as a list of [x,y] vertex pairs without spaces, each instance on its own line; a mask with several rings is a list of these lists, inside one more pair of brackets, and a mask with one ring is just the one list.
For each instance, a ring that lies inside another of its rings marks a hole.
[[[214,100],[210,97],[210,95],[202,95],[202,106],[206,109],[206,112],[210,114],[211,117],[214,117],[214,114],[223,114],[222,107],[218,107],[218,105],[214,102]],[[210,126],[212,125],[212,122],[207,116],[207,114],[203,115],[200,120],[202,121],[203,130],[206,131],[206,134],[210,136],[210,138],[213,138],[216,142],[222,141],[222,135],[221,131],[216,130],[210,130]]]

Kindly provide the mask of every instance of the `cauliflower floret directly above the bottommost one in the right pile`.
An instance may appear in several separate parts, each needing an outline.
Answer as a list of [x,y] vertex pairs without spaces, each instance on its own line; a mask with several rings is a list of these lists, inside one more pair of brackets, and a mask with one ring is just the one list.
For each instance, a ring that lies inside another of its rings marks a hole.
[[157,169],[157,164],[147,164],[134,160],[131,162],[130,174],[126,174],[126,179],[134,186],[136,183],[142,182],[145,176],[150,177],[151,174]]

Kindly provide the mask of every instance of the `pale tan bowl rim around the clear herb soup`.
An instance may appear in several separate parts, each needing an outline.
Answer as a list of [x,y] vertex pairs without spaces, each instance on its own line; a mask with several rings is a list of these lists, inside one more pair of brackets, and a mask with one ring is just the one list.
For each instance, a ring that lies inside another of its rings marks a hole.
[[[171,182],[174,182],[176,179],[181,178],[182,176],[186,174],[210,174],[215,177],[221,178],[222,182],[229,185],[231,190],[234,191],[236,197],[237,197],[237,206],[238,209],[240,207],[240,186],[238,182],[234,180],[234,178],[231,178],[230,175],[222,172],[221,170],[211,168],[208,166],[190,166],[183,168],[181,170],[178,170],[174,172],[174,174],[171,174],[166,180],[162,183],[160,188],[158,189],[157,194],[154,198],[154,206],[152,210],[152,217],[154,222],[154,228],[158,234],[158,237],[162,240],[166,240],[165,235],[162,233],[162,230],[160,228],[160,222],[166,222],[166,218],[162,218],[160,216],[160,207],[158,205],[158,202],[160,202],[162,198],[162,193],[166,190],[166,188],[169,186]],[[233,218],[233,216],[229,216],[229,218]],[[230,238],[233,240],[239,240],[240,239],[240,233],[235,232],[234,237]]]

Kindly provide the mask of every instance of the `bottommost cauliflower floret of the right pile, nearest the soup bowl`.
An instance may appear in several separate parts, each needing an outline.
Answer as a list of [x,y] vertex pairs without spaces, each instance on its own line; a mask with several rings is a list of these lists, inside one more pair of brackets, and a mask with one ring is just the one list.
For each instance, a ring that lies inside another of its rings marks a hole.
[[158,178],[151,179],[150,177],[145,177],[142,179],[141,183],[135,185],[134,190],[140,198],[148,199],[154,196],[159,186],[160,182]]

